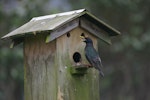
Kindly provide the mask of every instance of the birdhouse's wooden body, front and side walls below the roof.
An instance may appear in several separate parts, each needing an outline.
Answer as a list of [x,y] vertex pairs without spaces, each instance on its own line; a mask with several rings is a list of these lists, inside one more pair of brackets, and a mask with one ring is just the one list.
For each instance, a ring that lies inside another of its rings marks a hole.
[[99,100],[99,77],[94,68],[83,76],[70,72],[74,52],[78,51],[82,63],[87,63],[85,44],[79,38],[82,32],[95,38],[81,28],[72,30],[70,37],[64,34],[49,43],[45,43],[47,34],[25,38],[25,100]]

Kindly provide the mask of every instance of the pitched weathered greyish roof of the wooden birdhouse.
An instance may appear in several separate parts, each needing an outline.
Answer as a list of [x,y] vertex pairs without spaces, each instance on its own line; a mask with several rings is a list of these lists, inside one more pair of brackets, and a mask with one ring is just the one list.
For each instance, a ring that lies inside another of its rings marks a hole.
[[34,17],[26,24],[22,25],[16,30],[3,36],[2,39],[4,38],[16,39],[19,38],[20,36],[23,37],[26,34],[31,34],[34,32],[42,33],[42,31],[57,30],[57,28],[63,26],[64,24],[69,23],[80,17],[84,17],[90,22],[97,25],[98,27],[102,28],[109,34],[109,36],[115,36],[120,34],[119,31],[112,28],[111,26],[101,21],[100,19],[96,18],[94,15],[89,13],[86,9],[80,9],[80,10],[74,10],[74,11],[69,11],[64,13]]

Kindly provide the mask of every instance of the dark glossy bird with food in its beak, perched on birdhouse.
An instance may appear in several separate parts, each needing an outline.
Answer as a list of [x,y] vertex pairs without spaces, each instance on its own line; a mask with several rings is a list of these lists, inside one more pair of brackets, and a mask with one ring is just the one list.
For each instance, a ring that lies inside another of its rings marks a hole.
[[102,62],[101,62],[101,58],[98,54],[98,52],[96,51],[96,49],[93,46],[93,41],[91,38],[89,37],[85,37],[84,35],[80,36],[82,39],[84,39],[83,42],[86,43],[85,46],[85,57],[87,59],[87,61],[93,66],[95,67],[95,69],[97,69],[99,71],[99,75],[104,77],[104,73],[102,71]]

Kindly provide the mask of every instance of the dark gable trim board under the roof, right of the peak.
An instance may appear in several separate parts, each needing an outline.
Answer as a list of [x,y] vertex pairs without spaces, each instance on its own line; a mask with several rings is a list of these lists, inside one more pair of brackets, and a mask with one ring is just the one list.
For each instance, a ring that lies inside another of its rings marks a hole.
[[96,26],[94,23],[88,21],[87,19],[81,17],[80,18],[80,26],[81,28],[89,31],[93,35],[97,36],[98,38],[102,39],[108,44],[111,44],[110,36],[106,31]]

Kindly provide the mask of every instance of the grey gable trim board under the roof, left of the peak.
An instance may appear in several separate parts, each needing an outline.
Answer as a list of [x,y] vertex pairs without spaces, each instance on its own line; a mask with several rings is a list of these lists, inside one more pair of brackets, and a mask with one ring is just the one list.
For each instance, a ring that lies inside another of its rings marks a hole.
[[50,35],[46,37],[46,43],[60,37],[61,35],[71,31],[72,29],[76,28],[79,26],[79,19],[75,19],[71,22],[68,22],[65,25],[61,25],[61,27],[56,28],[56,30],[53,30]]

